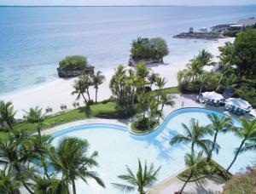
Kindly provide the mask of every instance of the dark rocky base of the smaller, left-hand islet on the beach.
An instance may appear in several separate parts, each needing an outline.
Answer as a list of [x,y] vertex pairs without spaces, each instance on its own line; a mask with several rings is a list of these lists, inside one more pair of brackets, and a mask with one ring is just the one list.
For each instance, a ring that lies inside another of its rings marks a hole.
[[93,74],[94,68],[94,66],[85,66],[82,70],[70,70],[60,66],[57,71],[59,77],[78,77],[84,74]]

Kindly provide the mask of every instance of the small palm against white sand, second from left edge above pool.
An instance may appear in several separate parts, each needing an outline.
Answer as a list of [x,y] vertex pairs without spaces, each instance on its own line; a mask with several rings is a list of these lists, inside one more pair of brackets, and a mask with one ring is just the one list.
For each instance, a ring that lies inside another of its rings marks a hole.
[[30,108],[29,111],[26,111],[26,120],[28,123],[34,123],[38,130],[38,135],[41,137],[41,129],[44,124],[45,113],[43,109],[36,106],[35,108]]

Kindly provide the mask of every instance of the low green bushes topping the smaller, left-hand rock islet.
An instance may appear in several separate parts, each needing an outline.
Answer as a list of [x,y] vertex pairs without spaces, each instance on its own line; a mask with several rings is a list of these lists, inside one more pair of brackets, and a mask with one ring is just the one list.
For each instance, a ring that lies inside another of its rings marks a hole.
[[82,70],[87,66],[87,58],[82,55],[67,56],[59,62],[62,68],[70,70]]

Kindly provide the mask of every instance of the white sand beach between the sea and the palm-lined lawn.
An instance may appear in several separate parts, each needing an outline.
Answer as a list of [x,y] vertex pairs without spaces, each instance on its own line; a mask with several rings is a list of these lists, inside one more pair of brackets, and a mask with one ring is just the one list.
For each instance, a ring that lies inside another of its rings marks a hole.
[[[218,41],[212,41],[209,47],[206,48],[207,51],[214,55],[214,60],[218,61],[218,47],[224,46],[226,42],[233,42],[234,38],[224,38]],[[166,61],[165,64],[160,65],[150,65],[154,72],[159,73],[161,77],[166,77],[168,83],[166,87],[177,86],[177,71],[185,68],[189,61],[183,61],[181,59],[179,62],[172,63],[172,61]],[[108,83],[113,75],[113,70],[108,72],[104,71],[103,74],[106,77],[106,82],[104,82],[99,88],[98,100],[108,99],[111,95],[110,89],[108,88]],[[71,79],[58,79],[51,83],[45,83],[33,88],[27,88],[26,90],[21,90],[13,92],[11,94],[0,95],[0,100],[12,101],[15,109],[17,110],[17,118],[24,115],[24,110],[27,111],[30,107],[40,106],[44,109],[48,106],[52,107],[53,113],[61,111],[61,105],[67,105],[68,109],[72,109],[73,102],[75,101],[75,96],[71,95],[73,91],[73,82],[76,78]],[[90,89],[91,97],[95,98],[94,88]],[[83,103],[80,100],[80,103]]]

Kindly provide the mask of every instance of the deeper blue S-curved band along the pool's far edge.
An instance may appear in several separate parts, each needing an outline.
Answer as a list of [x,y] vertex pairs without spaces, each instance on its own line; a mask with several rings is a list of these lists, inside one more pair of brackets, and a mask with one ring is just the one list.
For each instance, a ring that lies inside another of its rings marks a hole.
[[[186,112],[203,112],[203,113],[214,113],[214,114],[218,114],[221,117],[232,117],[230,115],[227,115],[223,112],[220,111],[213,111],[211,109],[207,109],[207,108],[202,108],[202,107],[185,107],[185,108],[179,108],[177,110],[174,110],[172,112],[170,112],[165,119],[163,120],[162,123],[160,123],[160,125],[157,128],[154,128],[154,130],[152,130],[149,133],[146,134],[135,134],[133,132],[131,132],[128,128],[128,126],[122,126],[122,125],[118,125],[118,124],[112,124],[112,123],[88,123],[88,124],[81,124],[81,125],[76,125],[73,127],[69,127],[69,128],[65,128],[62,129],[60,131],[57,131],[53,134],[51,134],[54,137],[59,137],[63,134],[69,134],[72,133],[73,131],[79,131],[79,130],[85,130],[85,129],[94,129],[94,128],[110,128],[113,130],[120,130],[123,131],[125,133],[130,134],[131,138],[136,139],[136,140],[144,140],[147,139],[149,136],[150,137],[154,137],[157,136],[158,134],[160,134],[163,129],[166,127],[166,125],[172,120],[173,117],[176,117],[179,114],[183,114]],[[207,114],[208,114],[207,113]],[[239,122],[238,119],[236,119],[235,117],[232,117],[232,121],[233,123],[236,123],[237,125],[241,125],[241,123]]]

